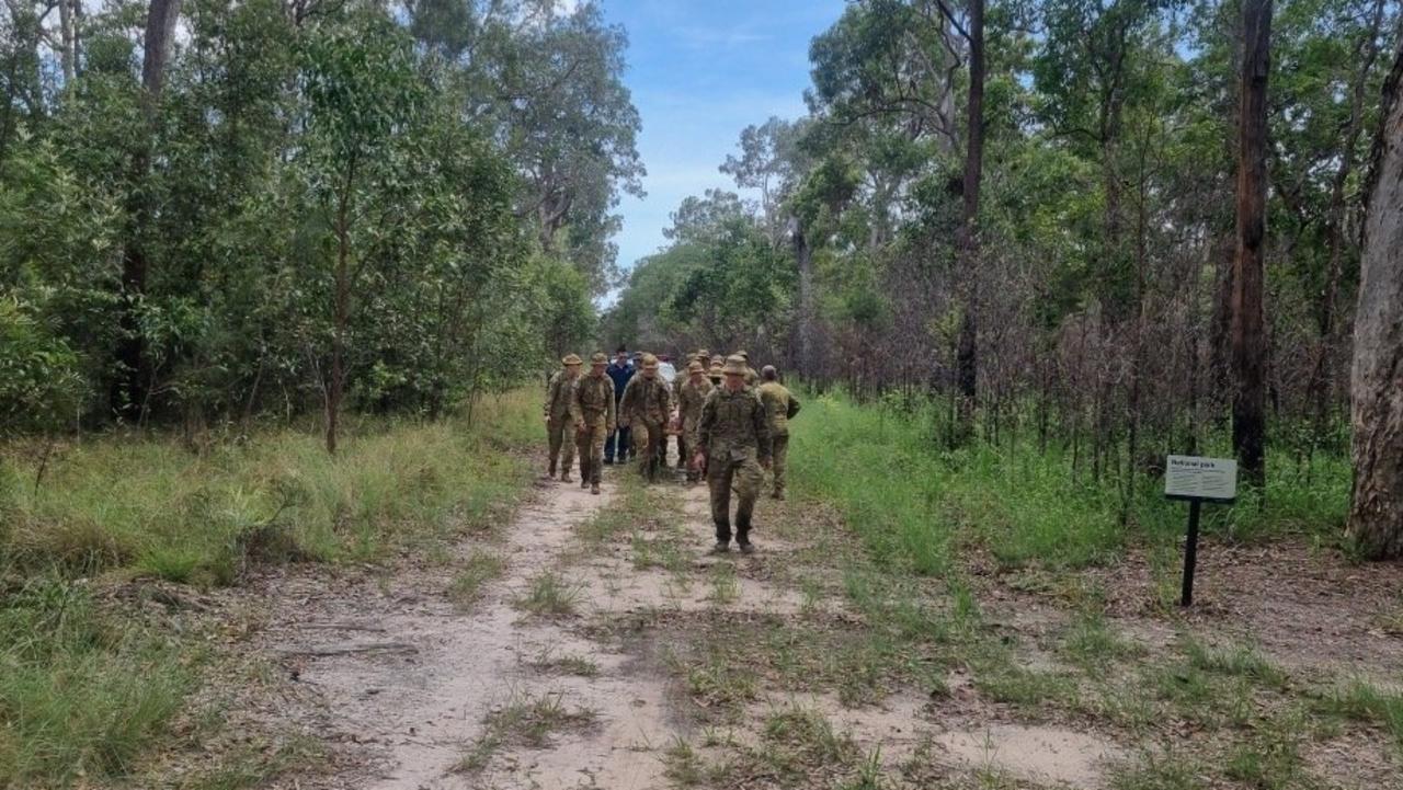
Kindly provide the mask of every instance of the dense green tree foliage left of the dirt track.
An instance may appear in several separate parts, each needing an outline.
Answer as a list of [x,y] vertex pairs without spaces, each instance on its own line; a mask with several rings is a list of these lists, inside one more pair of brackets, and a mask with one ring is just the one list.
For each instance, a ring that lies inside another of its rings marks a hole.
[[104,421],[130,334],[145,415],[191,427],[323,410],[334,338],[348,407],[431,415],[579,351],[641,175],[626,38],[593,4],[449,6],[191,0],[150,114],[142,8],[84,15],[65,84],[38,18],[11,20],[0,66],[34,81],[0,69],[25,108],[0,129],[7,428],[53,427],[41,401]]

